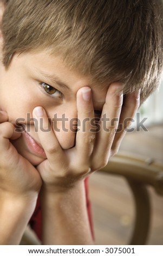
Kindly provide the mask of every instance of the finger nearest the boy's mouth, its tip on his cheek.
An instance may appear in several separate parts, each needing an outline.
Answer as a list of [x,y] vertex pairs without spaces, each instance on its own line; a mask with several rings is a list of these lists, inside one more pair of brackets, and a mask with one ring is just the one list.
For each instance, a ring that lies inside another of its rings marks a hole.
[[34,108],[32,114],[38,121],[38,127],[36,129],[38,130],[38,137],[47,159],[51,164],[55,163],[55,166],[57,166],[58,160],[63,157],[64,153],[51,128],[47,114],[42,107]]

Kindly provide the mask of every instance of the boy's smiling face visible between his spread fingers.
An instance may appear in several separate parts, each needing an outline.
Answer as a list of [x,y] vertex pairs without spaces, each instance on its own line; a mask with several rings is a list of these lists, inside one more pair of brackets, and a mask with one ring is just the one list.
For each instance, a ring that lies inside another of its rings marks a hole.
[[8,112],[11,123],[25,127],[21,137],[12,143],[34,165],[46,158],[31,120],[36,106],[42,106],[51,120],[55,114],[57,119],[68,118],[54,120],[57,127],[53,130],[61,147],[69,149],[75,144],[70,120],[77,118],[77,90],[85,86],[92,89],[95,110],[102,110],[105,103],[108,87],[90,84],[89,77],[69,70],[61,57],[50,56],[46,51],[15,54],[8,70],[1,64],[0,72],[0,109]]

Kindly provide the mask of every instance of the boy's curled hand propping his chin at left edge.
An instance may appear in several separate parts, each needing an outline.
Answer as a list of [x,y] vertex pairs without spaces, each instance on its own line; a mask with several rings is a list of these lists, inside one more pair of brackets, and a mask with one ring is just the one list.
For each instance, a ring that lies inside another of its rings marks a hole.
[[8,114],[0,111],[0,194],[12,198],[38,193],[42,184],[36,168],[10,142],[20,136],[8,121]]

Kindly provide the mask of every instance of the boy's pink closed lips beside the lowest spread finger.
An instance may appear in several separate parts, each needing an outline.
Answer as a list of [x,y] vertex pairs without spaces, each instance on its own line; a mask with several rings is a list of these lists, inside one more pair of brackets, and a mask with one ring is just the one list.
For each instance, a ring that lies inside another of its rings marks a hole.
[[45,151],[43,148],[33,139],[27,131],[23,132],[25,142],[27,144],[28,149],[31,151],[32,154],[36,156],[43,157],[44,159],[47,159],[47,156],[45,155]]

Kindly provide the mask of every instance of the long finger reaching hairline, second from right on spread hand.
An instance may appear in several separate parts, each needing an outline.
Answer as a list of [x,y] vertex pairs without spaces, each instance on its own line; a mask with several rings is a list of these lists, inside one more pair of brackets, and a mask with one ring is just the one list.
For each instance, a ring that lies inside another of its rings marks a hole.
[[103,105],[100,132],[97,133],[96,147],[93,153],[93,163],[97,169],[102,168],[108,162],[110,149],[119,124],[122,102],[122,84],[112,83],[109,86],[106,101]]

